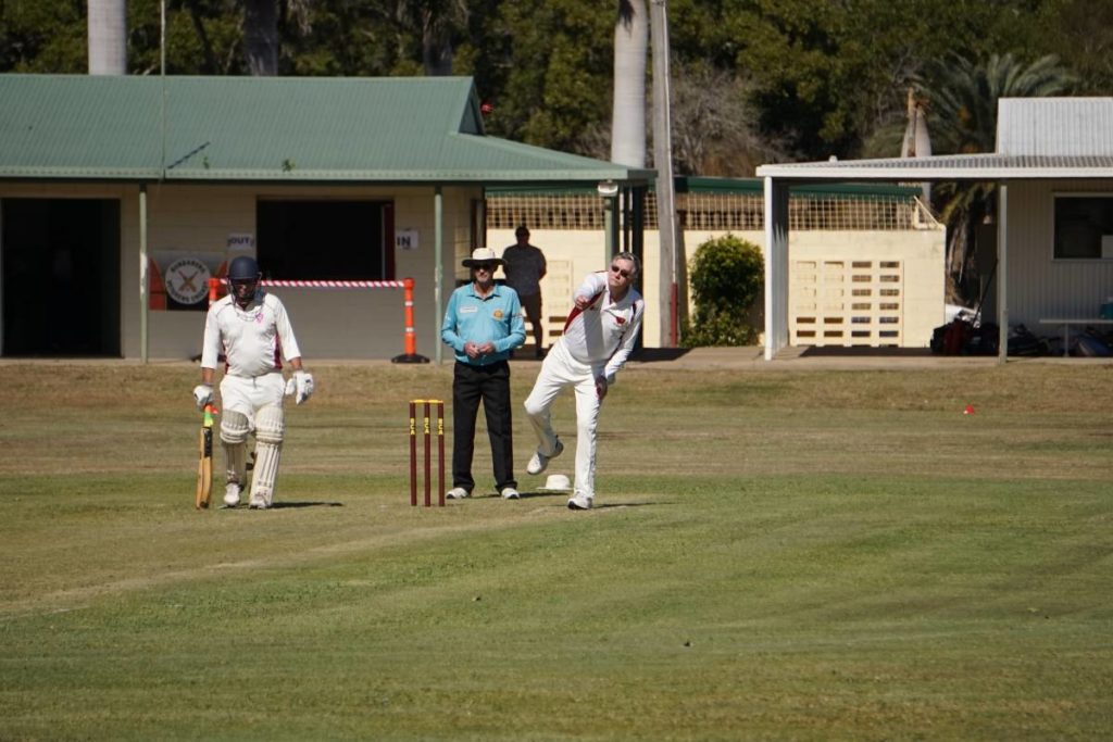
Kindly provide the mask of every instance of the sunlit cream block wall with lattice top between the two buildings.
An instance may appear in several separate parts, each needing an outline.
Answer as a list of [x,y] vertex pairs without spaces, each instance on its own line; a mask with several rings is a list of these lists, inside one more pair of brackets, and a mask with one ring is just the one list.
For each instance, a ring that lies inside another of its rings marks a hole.
[[[789,219],[790,344],[926,348],[944,321],[945,230],[917,200],[919,188],[825,186],[792,192]],[[688,261],[705,241],[732,234],[761,246],[765,207],[756,179],[678,178],[679,248]],[[549,261],[542,281],[546,335],[560,333],[572,289],[609,259],[603,204],[594,189],[487,189],[487,245],[514,243],[526,225]],[[619,247],[637,245],[633,235]],[[659,234],[656,199],[646,206],[642,294],[646,347],[657,347]],[[759,320],[760,320],[760,311]],[[528,334],[529,335],[529,334]]]

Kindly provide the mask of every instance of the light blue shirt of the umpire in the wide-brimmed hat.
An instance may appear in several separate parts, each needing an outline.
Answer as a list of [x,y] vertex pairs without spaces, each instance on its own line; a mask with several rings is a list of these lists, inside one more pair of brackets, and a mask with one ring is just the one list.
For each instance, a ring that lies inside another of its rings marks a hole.
[[[471,366],[487,366],[506,360],[510,352],[525,343],[525,323],[518,293],[509,286],[494,284],[491,293],[480,296],[475,284],[461,286],[449,298],[441,325],[441,339],[456,352],[456,360]],[[475,360],[464,353],[464,344],[494,344],[494,353]]]

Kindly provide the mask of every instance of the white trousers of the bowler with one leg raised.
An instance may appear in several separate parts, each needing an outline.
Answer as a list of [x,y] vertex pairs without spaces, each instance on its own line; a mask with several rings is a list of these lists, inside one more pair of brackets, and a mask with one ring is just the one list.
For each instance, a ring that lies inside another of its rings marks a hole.
[[599,395],[591,366],[581,364],[558,338],[541,363],[541,373],[525,399],[525,414],[538,434],[538,451],[551,456],[556,451],[550,407],[564,388],[575,390],[575,494],[595,496],[595,425],[599,422]]

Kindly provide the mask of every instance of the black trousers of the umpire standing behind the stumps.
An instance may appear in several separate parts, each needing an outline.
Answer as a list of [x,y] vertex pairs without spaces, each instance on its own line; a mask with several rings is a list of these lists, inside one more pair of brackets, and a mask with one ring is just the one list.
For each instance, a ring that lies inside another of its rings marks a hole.
[[510,364],[487,366],[456,362],[452,376],[452,486],[475,488],[472,455],[475,452],[475,416],[483,400],[496,492],[518,487],[514,481],[514,439],[510,414]]

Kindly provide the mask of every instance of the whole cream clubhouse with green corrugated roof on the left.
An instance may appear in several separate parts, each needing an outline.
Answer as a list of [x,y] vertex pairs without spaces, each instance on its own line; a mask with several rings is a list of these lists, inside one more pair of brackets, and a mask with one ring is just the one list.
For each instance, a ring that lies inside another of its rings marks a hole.
[[193,357],[250,254],[307,358],[402,355],[413,278],[440,359],[485,186],[653,176],[486,136],[469,78],[3,75],[0,101],[3,356]]

